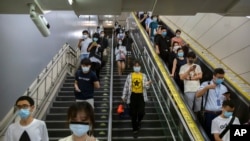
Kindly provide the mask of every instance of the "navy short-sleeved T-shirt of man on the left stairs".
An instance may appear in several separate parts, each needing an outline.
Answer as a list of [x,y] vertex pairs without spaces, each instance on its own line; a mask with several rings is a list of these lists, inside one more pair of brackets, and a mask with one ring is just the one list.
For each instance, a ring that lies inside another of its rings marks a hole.
[[82,70],[77,70],[75,80],[81,90],[81,92],[75,92],[76,99],[86,100],[94,97],[94,82],[98,81],[95,72],[83,73]]

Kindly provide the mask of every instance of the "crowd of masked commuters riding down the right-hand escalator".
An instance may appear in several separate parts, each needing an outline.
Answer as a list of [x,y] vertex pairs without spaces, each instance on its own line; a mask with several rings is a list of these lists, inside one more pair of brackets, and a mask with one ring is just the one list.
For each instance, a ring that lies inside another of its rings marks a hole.
[[189,44],[181,38],[181,30],[177,29],[174,35],[168,35],[169,29],[160,21],[158,15],[152,15],[151,12],[136,14],[148,33],[155,52],[170,70],[170,76],[183,94],[186,105],[197,115],[197,119],[204,113],[204,120],[200,122],[209,139],[229,141],[227,125],[240,122],[233,115],[234,102],[223,84],[225,75],[223,68],[214,69],[212,80],[203,80],[201,83],[202,68],[195,63],[196,54],[189,50]]

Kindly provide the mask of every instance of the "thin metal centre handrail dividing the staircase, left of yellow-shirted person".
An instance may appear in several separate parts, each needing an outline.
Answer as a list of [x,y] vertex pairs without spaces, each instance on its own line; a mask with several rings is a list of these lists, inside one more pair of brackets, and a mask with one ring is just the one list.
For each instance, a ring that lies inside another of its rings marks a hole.
[[[113,32],[114,33],[114,32]],[[113,74],[114,74],[114,34],[112,34],[112,44],[110,47],[110,52],[111,52],[111,66],[110,66],[110,89],[109,89],[109,121],[108,121],[108,141],[112,141],[112,113],[113,113]]]

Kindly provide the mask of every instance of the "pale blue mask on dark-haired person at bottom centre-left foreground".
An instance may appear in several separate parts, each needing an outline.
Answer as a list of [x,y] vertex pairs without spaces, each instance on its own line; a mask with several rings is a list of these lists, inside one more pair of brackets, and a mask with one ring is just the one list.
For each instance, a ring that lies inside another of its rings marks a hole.
[[89,131],[89,125],[85,124],[69,124],[69,129],[73,132],[77,137],[81,137],[84,134],[87,134]]

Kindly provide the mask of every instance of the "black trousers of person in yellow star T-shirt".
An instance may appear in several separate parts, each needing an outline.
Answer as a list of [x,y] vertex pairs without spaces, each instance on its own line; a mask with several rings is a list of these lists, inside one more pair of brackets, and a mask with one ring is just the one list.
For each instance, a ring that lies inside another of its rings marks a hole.
[[137,131],[138,126],[145,115],[145,102],[143,94],[132,93],[129,106],[133,131]]

